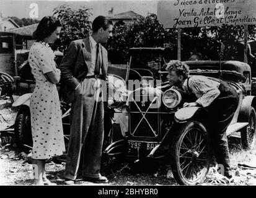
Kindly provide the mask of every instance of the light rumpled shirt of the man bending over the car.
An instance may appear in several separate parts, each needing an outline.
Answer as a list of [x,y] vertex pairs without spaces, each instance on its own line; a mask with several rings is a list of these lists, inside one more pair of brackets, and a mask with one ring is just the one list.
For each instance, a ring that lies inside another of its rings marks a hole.
[[198,98],[196,103],[206,107],[211,105],[211,103],[219,96],[219,84],[220,82],[213,78],[205,77],[203,75],[192,75],[189,79],[185,80],[183,89],[186,92],[195,93]]

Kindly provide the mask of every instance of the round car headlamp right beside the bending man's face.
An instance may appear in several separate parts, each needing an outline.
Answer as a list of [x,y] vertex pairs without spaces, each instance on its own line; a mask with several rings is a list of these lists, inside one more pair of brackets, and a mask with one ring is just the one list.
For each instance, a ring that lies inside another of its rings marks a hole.
[[175,108],[180,104],[180,101],[182,100],[182,95],[180,95],[180,92],[170,88],[169,90],[166,90],[162,96],[162,102],[164,105],[166,105],[167,108]]

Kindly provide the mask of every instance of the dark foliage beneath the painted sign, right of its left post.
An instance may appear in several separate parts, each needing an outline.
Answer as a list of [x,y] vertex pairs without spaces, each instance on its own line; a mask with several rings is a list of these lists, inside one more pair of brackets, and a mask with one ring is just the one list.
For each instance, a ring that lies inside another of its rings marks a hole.
[[[255,25],[249,25],[248,30],[249,37],[254,37]],[[244,26],[239,25],[183,28],[182,60],[187,60],[194,51],[199,51],[205,60],[219,60],[220,52],[221,60],[237,59],[238,42],[243,39]]]

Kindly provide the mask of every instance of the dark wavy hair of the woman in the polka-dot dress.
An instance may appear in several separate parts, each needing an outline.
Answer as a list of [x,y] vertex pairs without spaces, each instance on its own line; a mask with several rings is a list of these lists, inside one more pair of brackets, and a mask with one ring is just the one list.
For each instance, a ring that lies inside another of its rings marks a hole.
[[46,37],[49,37],[57,27],[61,27],[62,24],[60,20],[55,19],[55,17],[43,17],[37,25],[37,30],[33,32],[33,38],[37,41],[43,41]]

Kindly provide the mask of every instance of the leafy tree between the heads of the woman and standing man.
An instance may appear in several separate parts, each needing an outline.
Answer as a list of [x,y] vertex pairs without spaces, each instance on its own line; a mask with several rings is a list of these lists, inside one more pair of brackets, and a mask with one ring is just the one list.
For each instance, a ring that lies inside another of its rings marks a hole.
[[53,15],[57,19],[60,19],[63,24],[60,40],[52,45],[53,49],[58,48],[65,53],[71,41],[89,36],[91,31],[89,17],[92,15],[90,10],[84,6],[81,6],[78,10],[74,10],[65,4],[53,9]]

